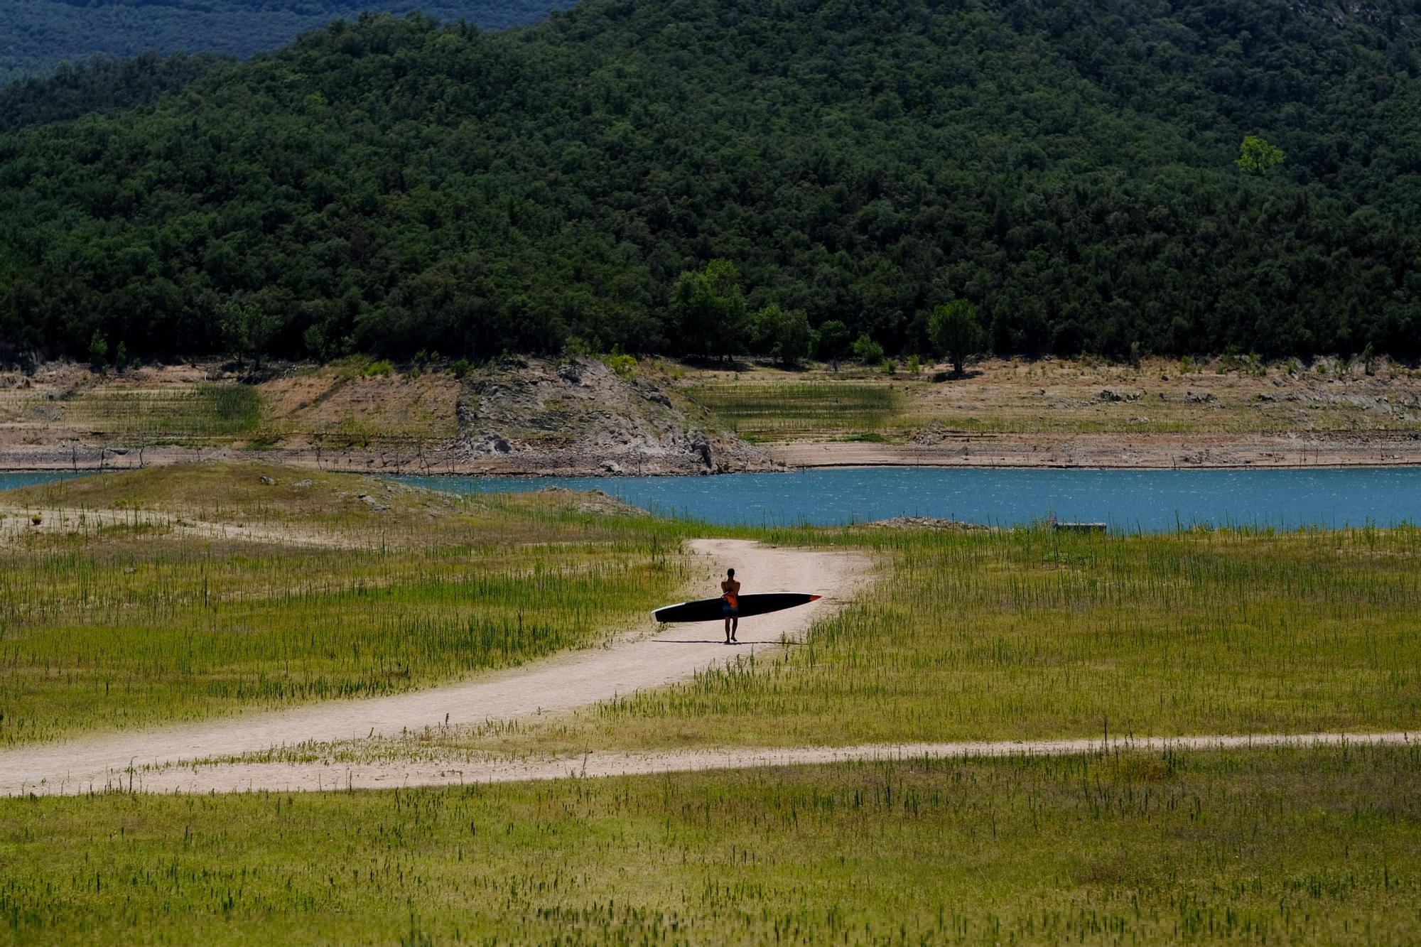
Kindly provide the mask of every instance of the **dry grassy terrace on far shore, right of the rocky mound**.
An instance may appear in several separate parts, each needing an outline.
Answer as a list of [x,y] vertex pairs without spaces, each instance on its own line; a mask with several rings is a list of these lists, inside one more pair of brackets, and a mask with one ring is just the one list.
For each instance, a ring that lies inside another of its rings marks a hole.
[[685,391],[742,437],[934,444],[948,435],[1287,435],[1421,429],[1421,375],[1390,360],[982,360],[885,375],[844,364],[688,373]]

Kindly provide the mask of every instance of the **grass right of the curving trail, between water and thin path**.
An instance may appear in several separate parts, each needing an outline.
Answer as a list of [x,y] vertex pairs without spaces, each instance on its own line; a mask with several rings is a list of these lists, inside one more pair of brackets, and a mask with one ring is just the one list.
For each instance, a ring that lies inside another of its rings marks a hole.
[[[782,539],[790,539],[784,533]],[[806,644],[456,752],[1421,727],[1421,530],[827,530],[880,580]],[[746,620],[745,634],[774,633]]]

